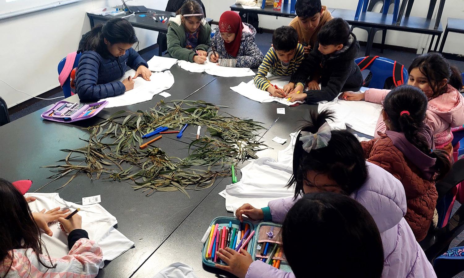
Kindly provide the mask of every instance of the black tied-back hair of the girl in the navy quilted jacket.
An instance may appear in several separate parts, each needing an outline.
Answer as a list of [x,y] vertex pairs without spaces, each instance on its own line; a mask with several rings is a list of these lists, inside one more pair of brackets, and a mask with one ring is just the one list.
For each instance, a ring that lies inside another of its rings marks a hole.
[[104,25],[99,24],[90,32],[82,36],[79,43],[79,51],[96,51],[103,57],[110,57],[110,52],[104,39],[110,44],[135,44],[138,42],[134,27],[126,19],[111,19]]

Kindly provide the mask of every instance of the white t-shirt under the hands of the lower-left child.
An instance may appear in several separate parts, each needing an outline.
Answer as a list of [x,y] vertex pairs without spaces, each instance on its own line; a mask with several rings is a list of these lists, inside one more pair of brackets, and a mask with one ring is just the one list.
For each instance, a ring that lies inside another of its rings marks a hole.
[[[117,224],[116,217],[111,215],[100,204],[78,205],[73,202],[64,201],[58,193],[26,193],[24,196],[34,196],[35,201],[29,202],[32,212],[40,212],[45,208],[69,208],[70,212],[80,208],[79,215],[82,216],[82,228],[87,231],[89,238],[94,240],[103,251],[103,261],[112,260],[134,246],[134,242],[121,234],[113,226]],[[42,233],[42,241],[51,257],[61,258],[69,253],[68,236],[59,227],[58,221],[49,224],[53,235],[50,237]]]

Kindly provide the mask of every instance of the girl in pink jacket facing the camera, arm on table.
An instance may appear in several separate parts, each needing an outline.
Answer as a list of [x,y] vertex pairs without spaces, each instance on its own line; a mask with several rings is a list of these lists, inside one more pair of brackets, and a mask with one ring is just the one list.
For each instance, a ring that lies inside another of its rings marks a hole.
[[[408,85],[421,89],[429,100],[425,123],[432,129],[435,148],[445,150],[452,158],[451,127],[464,124],[464,98],[458,91],[463,86],[459,69],[451,66],[441,54],[427,53],[412,60],[408,74]],[[346,96],[348,101],[365,99],[381,103],[388,92],[371,88],[362,94],[345,92],[343,97]],[[374,138],[379,137],[377,132],[384,133],[386,128],[380,116]]]

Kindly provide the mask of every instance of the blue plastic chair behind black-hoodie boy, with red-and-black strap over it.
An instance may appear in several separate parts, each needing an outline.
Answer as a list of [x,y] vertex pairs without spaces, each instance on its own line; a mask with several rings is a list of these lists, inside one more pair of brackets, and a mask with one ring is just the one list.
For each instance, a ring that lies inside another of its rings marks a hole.
[[[357,58],[354,60],[355,63],[361,62],[365,57]],[[372,80],[369,82],[369,88],[383,89],[385,80],[388,77],[393,76],[393,65],[395,61],[385,58],[378,57],[366,69],[370,70],[372,73]],[[403,83],[407,83],[407,70],[403,69]]]

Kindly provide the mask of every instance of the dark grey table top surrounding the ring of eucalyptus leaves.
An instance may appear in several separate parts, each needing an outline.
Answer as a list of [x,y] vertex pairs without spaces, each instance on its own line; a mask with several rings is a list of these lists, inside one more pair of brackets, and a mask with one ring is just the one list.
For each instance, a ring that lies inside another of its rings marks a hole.
[[[300,126],[303,119],[314,105],[287,107],[277,102],[259,103],[233,92],[230,87],[240,82],[248,82],[249,77],[226,78],[209,76],[204,73],[190,73],[177,65],[171,68],[175,83],[168,90],[168,100],[187,99],[203,100],[216,105],[228,106],[224,113],[246,117],[263,123],[264,129],[259,133],[265,144],[274,149],[259,152],[259,156],[276,157],[277,150],[286,145],[272,142],[275,136],[287,138],[289,133]],[[72,98],[72,97],[71,97]],[[74,96],[74,101],[77,99]],[[40,166],[55,164],[66,156],[60,149],[82,147],[85,142],[79,140],[88,135],[82,126],[93,126],[110,114],[120,110],[136,111],[153,107],[161,96],[153,100],[128,107],[104,109],[97,117],[79,121],[74,125],[41,120],[42,111],[27,115],[0,127],[0,140],[3,142],[0,155],[0,177],[14,181],[32,179],[30,192],[38,190],[49,180],[52,172]],[[285,107],[286,114],[277,114],[277,108]],[[46,109],[46,108],[45,108]],[[44,110],[45,110],[44,109]],[[187,144],[191,142],[196,127],[187,128],[182,139],[175,136],[163,136],[156,146],[169,156],[187,156]],[[175,135],[175,134],[174,134]],[[240,167],[238,167],[240,168]],[[240,173],[238,171],[238,178]],[[67,201],[80,202],[82,197],[101,195],[101,205],[118,220],[117,229],[135,242],[135,247],[107,263],[98,277],[129,278],[152,277],[165,266],[176,261],[192,265],[199,277],[213,277],[224,274],[201,263],[201,236],[212,219],[216,216],[231,216],[225,208],[225,200],[218,193],[231,183],[230,177],[219,178],[215,184],[205,190],[188,190],[190,199],[180,192],[155,192],[152,196],[134,191],[132,182],[118,182],[110,179],[90,180],[85,174],[78,175],[62,189],[67,181],[62,178],[39,192],[58,192]],[[140,268],[139,268],[140,267]],[[134,274],[134,275],[133,275]],[[227,275],[230,276],[230,275]]]

